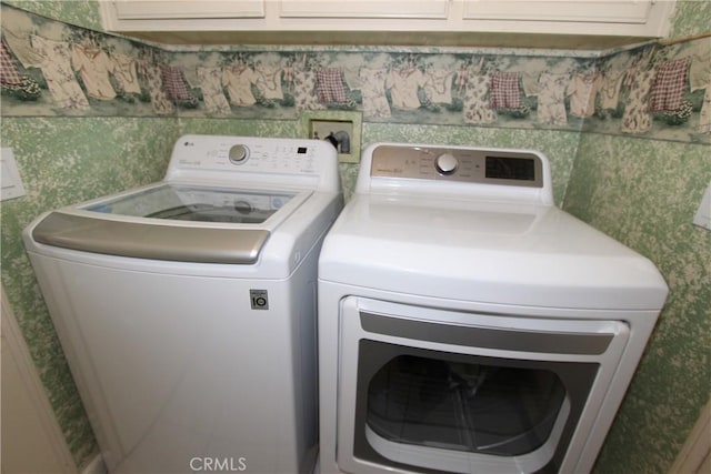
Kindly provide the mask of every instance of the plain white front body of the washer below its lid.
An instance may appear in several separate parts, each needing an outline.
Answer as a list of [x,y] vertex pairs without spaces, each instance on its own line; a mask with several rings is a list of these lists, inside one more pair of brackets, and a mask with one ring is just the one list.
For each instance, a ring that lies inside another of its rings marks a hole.
[[[184,472],[196,456],[244,457],[256,472],[304,462],[317,438],[316,399],[299,390],[316,389],[317,250],[288,280],[30,255],[58,295],[48,304],[111,472]],[[251,310],[251,290],[268,292],[269,311]]]

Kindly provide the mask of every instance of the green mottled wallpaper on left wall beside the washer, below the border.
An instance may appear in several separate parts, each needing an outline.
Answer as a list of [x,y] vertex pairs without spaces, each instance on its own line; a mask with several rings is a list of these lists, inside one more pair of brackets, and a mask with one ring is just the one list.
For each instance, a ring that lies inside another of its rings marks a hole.
[[78,464],[97,453],[93,433],[30,266],[21,232],[44,211],[159,180],[177,123],[168,119],[3,119],[27,195],[0,206],[2,284]]

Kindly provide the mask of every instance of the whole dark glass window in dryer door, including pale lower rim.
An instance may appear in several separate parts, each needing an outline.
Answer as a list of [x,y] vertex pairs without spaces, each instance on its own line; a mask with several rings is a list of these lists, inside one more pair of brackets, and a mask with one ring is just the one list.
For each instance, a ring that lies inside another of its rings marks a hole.
[[597,363],[491,357],[361,339],[353,455],[405,470],[555,471],[598,370]]

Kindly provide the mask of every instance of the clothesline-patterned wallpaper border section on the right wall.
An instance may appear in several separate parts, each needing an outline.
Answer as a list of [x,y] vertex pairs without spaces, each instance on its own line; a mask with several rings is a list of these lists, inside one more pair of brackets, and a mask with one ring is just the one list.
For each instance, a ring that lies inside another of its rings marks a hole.
[[[587,114],[583,130],[610,134],[709,143],[711,137],[711,38],[642,48],[605,58],[598,69],[572,78]],[[568,89],[569,93],[571,89]],[[595,91],[594,110],[592,95]]]

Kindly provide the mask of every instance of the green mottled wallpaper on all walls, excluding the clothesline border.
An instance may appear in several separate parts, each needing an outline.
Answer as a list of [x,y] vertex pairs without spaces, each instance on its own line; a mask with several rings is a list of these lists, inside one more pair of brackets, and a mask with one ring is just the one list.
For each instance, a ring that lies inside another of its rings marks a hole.
[[[100,29],[97,0],[4,0],[3,3],[68,24]],[[679,2],[672,37],[708,32],[709,24],[711,1]],[[690,43],[684,42],[654,50],[654,54],[640,50],[613,52],[599,60],[583,54],[581,58],[539,57],[527,61],[543,61],[551,67],[594,64],[600,68],[600,64],[613,63],[619,56],[631,60],[624,62],[628,67],[641,61],[680,59],[689,48]],[[694,53],[699,51],[693,44],[691,48]],[[283,51],[274,50],[277,57],[283,57]],[[437,59],[432,52],[424,50],[421,58]],[[701,52],[704,52],[703,48]],[[498,53],[489,54],[493,65],[523,61],[511,51],[500,51],[500,58]],[[449,52],[445,56],[448,60],[459,58]],[[317,57],[320,60],[334,58],[331,52],[317,53]],[[389,57],[394,61],[402,58],[405,62],[410,58],[398,51],[389,52]],[[180,64],[194,58],[208,57],[192,52],[171,57]],[[542,129],[535,125],[531,115],[527,127],[507,128],[511,122],[522,122],[508,117],[500,118],[503,121],[497,123],[480,124],[440,121],[438,115],[432,118],[431,110],[424,110],[423,115],[414,114],[414,118],[411,112],[395,111],[401,118],[399,123],[363,121],[363,145],[405,141],[533,147],[543,151],[553,164],[555,202],[564,203],[571,213],[650,256],[664,273],[671,288],[669,304],[604,445],[598,473],[665,472],[709,393],[711,295],[708,289],[711,282],[703,262],[711,261],[711,233],[691,226],[690,221],[704,181],[709,182],[711,163],[707,158],[709,147],[699,144],[708,143],[709,134],[697,131],[703,94],[687,92],[687,98],[694,101],[693,119],[683,122],[682,127],[654,121],[651,132],[637,134],[643,138],[620,137],[618,130],[604,130],[610,122],[590,121],[589,124],[602,128],[597,130],[601,133],[581,134],[578,130],[582,123],[574,122],[574,127]],[[92,105],[97,105],[93,99]],[[242,117],[247,120],[240,120],[239,117],[206,118],[181,109],[169,118],[139,118],[131,117],[128,105],[106,108],[106,104],[99,105],[104,111],[99,115],[103,117],[91,118],[72,118],[71,113],[47,118],[37,117],[44,113],[7,117],[3,111],[6,117],[0,129],[2,147],[14,150],[28,191],[26,198],[0,205],[2,282],[60,425],[80,464],[96,453],[97,446],[24,254],[21,229],[43,211],[160,179],[172,142],[182,133],[263,137],[302,133],[296,115],[280,120],[264,120],[263,117]],[[567,108],[570,110],[569,102]],[[451,111],[448,113],[450,115],[440,117],[452,117]],[[602,121],[605,117],[598,115],[594,120]],[[612,119],[620,123],[622,115]],[[658,140],[659,130],[672,137]],[[342,164],[341,171],[346,191],[350,193],[358,167]]]

